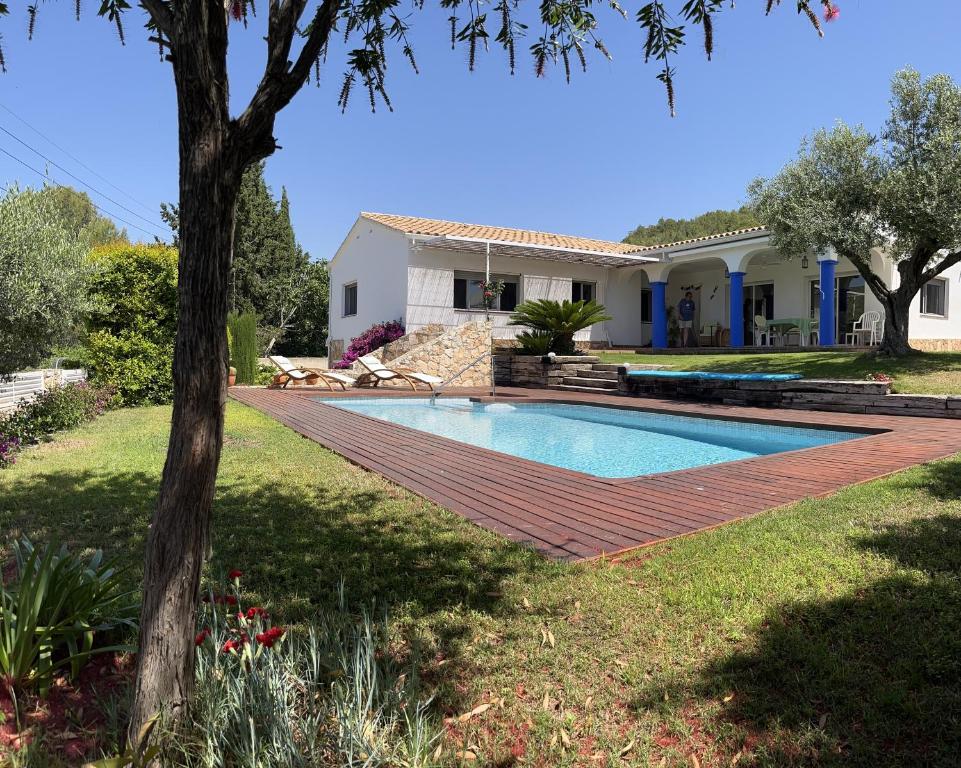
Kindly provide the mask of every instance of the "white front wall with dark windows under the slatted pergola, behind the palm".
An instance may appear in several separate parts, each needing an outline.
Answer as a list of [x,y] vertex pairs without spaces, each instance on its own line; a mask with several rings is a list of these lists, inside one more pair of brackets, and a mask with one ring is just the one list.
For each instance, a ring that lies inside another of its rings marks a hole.
[[[483,310],[454,309],[454,272],[484,273],[483,253],[463,253],[429,246],[413,248],[407,278],[407,327],[416,330],[430,323],[452,327],[469,320],[484,319]],[[518,301],[528,299],[571,299],[571,282],[580,280],[597,285],[597,301],[608,314],[620,308],[607,301],[609,270],[590,264],[571,264],[541,259],[491,256],[492,275],[516,275],[520,284]],[[640,297],[638,296],[638,302]],[[638,310],[639,311],[639,310]],[[507,324],[510,312],[491,312],[494,338],[513,338],[520,330]],[[599,323],[575,336],[578,341],[607,341],[605,323]]]

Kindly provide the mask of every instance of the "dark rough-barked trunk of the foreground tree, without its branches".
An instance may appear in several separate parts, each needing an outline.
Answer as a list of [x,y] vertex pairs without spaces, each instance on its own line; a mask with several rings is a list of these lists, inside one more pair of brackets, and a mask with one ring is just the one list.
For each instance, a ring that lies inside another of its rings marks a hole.
[[227,288],[242,171],[230,146],[224,6],[192,0],[181,7],[173,51],[180,139],[174,405],[147,539],[132,739],[161,708],[178,717],[193,691],[195,615],[223,442]]

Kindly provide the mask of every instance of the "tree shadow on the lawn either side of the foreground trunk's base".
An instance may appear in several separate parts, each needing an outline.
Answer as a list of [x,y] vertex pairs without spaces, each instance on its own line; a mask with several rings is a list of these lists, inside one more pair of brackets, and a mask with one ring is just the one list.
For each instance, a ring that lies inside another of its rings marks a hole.
[[[101,547],[129,565],[139,585],[157,484],[153,474],[103,469],[27,478],[0,500],[0,527]],[[286,624],[307,622],[336,604],[343,579],[352,610],[386,609],[421,652],[451,662],[478,614],[514,610],[502,599],[505,580],[556,567],[400,489],[332,491],[322,478],[290,486],[221,479],[213,531],[210,573],[242,569],[248,605],[265,605]],[[444,670],[450,680],[465,667]]]

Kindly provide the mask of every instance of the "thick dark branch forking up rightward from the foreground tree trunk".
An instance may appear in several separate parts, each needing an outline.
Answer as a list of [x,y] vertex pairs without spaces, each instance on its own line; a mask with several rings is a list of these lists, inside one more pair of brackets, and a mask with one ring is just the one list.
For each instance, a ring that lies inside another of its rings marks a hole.
[[272,141],[274,117],[307,82],[310,68],[327,44],[337,21],[340,0],[323,0],[318,6],[304,47],[291,66],[290,49],[305,7],[306,0],[272,0],[270,4],[264,76],[236,122],[238,145],[254,155],[263,152],[265,157],[273,151],[272,145],[268,147],[267,144]]

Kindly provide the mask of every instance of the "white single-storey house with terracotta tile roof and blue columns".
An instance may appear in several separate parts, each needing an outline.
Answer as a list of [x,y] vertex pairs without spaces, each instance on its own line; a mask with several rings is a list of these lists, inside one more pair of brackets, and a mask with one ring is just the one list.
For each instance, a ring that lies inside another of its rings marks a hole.
[[[873,258],[875,272],[892,284],[898,276],[893,262],[881,252]],[[482,318],[478,284],[488,274],[505,284],[491,312],[498,338],[516,333],[507,324],[514,306],[538,298],[604,304],[613,319],[578,337],[592,346],[667,346],[675,335],[667,309],[687,291],[694,296],[702,343],[724,346],[767,342],[755,336],[758,316],[776,325],[783,321],[777,327],[784,330],[801,329],[782,336],[786,343],[843,344],[852,341],[847,334],[864,312],[881,310],[846,259],[785,256],[770,246],[763,227],[636,246],[361,213],[330,263],[331,359],[385,320],[400,319],[415,330]],[[961,265],[921,291],[910,331],[918,348],[961,349]]]

